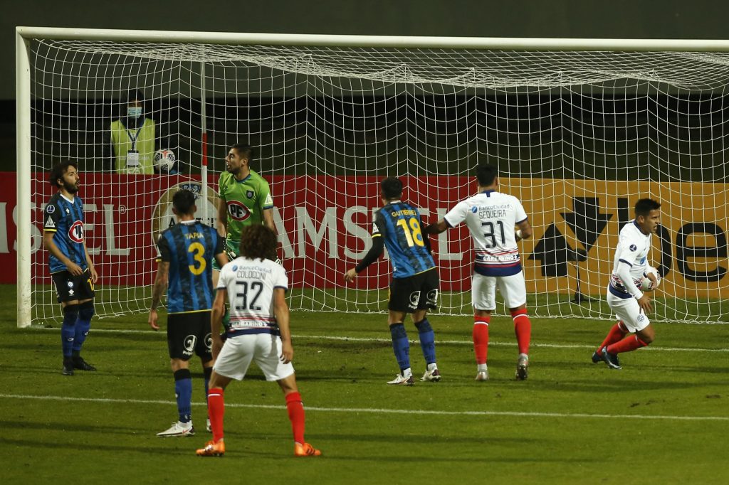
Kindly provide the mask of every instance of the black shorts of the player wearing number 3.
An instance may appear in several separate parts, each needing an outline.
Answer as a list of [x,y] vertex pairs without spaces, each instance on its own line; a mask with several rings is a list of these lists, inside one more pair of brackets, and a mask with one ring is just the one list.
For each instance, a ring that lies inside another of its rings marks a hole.
[[213,359],[210,312],[172,313],[167,316],[167,348],[171,359],[190,360],[192,354],[203,362]]

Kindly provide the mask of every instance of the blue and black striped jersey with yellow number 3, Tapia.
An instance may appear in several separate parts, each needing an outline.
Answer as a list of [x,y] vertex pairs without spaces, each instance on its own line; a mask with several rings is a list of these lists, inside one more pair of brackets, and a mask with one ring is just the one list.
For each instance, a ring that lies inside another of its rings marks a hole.
[[212,261],[223,252],[217,231],[200,221],[182,221],[160,234],[160,259],[170,264],[169,313],[201,312],[213,307]]

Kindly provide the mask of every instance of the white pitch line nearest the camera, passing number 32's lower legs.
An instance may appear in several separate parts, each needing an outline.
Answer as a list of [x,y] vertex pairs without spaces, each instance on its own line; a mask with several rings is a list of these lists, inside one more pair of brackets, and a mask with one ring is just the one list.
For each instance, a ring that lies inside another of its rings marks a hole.
[[[114,403],[114,404],[163,404],[175,406],[174,401],[160,401],[147,399],[112,399],[112,398],[71,398],[59,395],[19,395],[0,394],[4,399],[34,399],[37,401],[82,401],[87,403]],[[205,406],[205,403],[192,403],[192,406]],[[280,409],[286,406],[273,406],[270,404],[241,404],[225,403],[226,408],[248,409]],[[432,414],[438,416],[510,416],[510,417],[547,417],[547,418],[590,418],[590,419],[666,419],[669,421],[728,421],[726,416],[660,416],[648,414],[588,414],[588,413],[537,413],[520,411],[433,411],[429,409],[377,409],[377,408],[321,408],[306,406],[306,411],[321,411],[334,413],[370,413],[370,414]]]

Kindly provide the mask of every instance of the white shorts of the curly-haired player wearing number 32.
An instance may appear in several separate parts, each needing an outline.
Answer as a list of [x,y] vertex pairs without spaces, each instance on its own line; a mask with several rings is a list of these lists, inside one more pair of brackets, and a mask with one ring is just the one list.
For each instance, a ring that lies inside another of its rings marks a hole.
[[242,381],[251,361],[255,360],[267,381],[278,381],[294,374],[294,366],[281,362],[279,355],[281,337],[278,335],[238,335],[225,341],[213,370],[221,376]]

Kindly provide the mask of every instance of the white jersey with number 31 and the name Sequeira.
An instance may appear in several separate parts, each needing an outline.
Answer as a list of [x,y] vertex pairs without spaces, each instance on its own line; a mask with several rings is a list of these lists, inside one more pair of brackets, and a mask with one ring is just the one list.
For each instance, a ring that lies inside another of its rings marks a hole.
[[456,204],[444,219],[451,227],[466,221],[475,251],[475,272],[484,276],[521,272],[514,226],[526,221],[526,211],[516,197],[486,190]]

